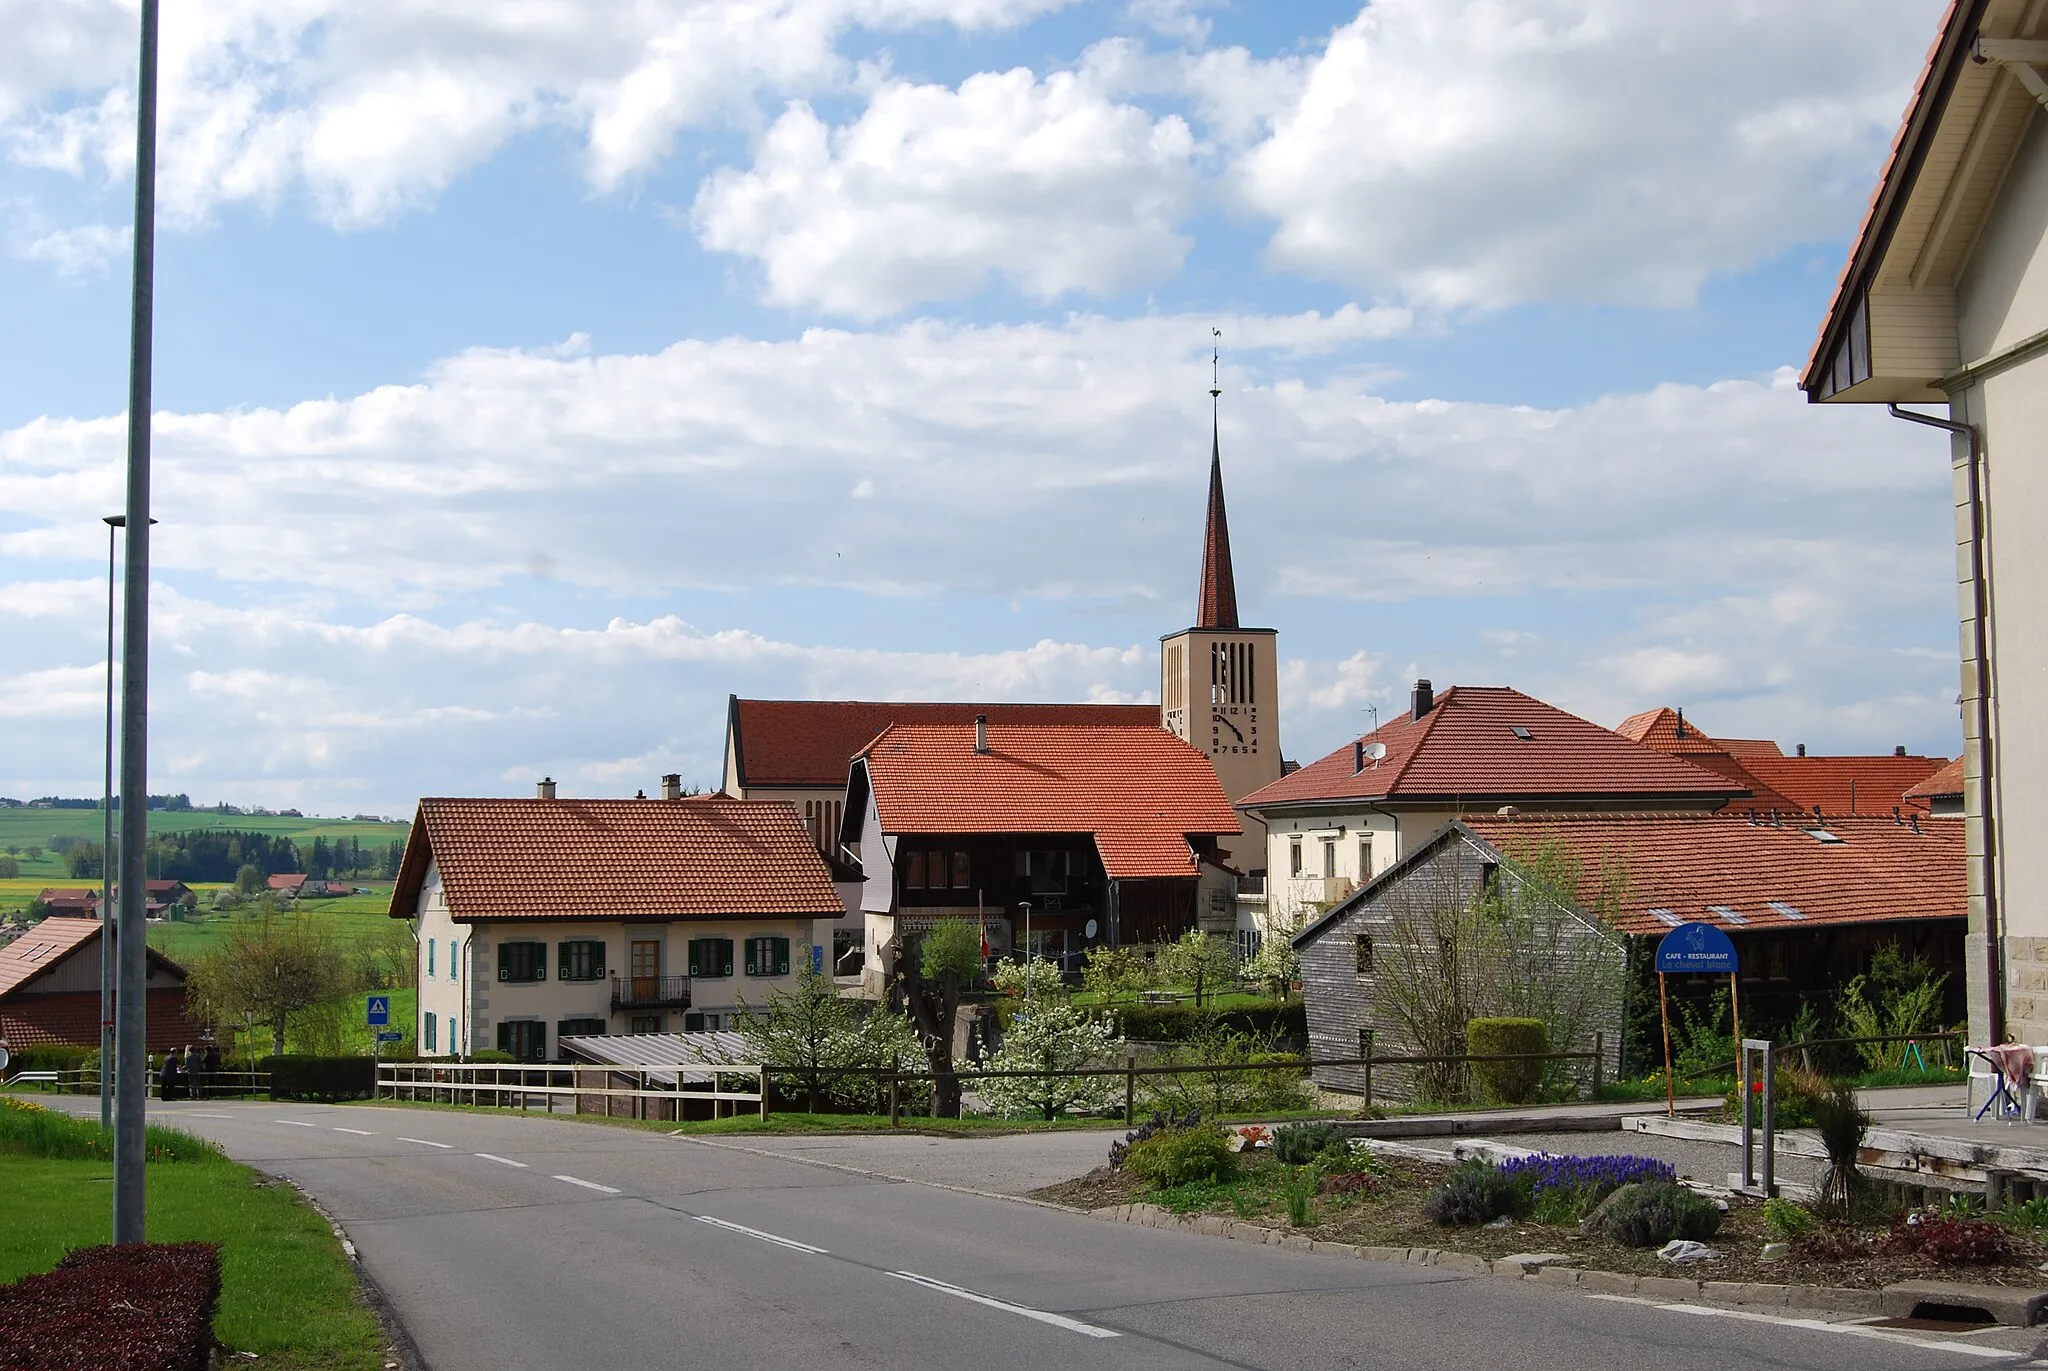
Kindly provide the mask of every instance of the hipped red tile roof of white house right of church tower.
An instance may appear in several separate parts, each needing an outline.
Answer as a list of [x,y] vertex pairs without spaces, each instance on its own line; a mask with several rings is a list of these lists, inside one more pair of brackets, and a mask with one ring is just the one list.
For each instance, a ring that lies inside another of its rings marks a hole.
[[[1522,728],[1530,736],[1520,738]],[[1327,799],[1698,799],[1737,797],[1737,785],[1507,687],[1452,687],[1421,719],[1401,715],[1360,742],[1386,744],[1364,771],[1352,744],[1280,777],[1247,809]]]

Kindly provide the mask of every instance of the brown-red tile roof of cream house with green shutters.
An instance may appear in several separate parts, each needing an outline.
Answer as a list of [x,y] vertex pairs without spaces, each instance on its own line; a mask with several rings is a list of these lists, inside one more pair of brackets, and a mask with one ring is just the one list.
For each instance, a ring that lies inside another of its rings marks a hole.
[[393,916],[416,910],[428,861],[465,922],[846,912],[786,799],[422,799]]

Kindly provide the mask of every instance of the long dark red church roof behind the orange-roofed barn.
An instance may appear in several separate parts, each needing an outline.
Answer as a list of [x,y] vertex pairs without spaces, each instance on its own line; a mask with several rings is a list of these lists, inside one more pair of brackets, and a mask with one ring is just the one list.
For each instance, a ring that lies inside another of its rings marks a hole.
[[727,730],[739,744],[739,783],[834,787],[860,748],[891,723],[1073,723],[1159,728],[1157,705],[950,705],[862,699],[737,699]]

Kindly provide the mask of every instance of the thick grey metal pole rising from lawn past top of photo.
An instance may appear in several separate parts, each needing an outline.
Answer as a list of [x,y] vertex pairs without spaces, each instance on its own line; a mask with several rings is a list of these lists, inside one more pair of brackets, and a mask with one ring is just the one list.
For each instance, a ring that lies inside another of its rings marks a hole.
[[150,340],[156,305],[156,8],[141,0],[135,98],[135,293],[129,320],[127,572],[121,584],[121,1029],[115,1051],[115,1242],[143,1240],[143,1109],[147,1080],[150,877]]

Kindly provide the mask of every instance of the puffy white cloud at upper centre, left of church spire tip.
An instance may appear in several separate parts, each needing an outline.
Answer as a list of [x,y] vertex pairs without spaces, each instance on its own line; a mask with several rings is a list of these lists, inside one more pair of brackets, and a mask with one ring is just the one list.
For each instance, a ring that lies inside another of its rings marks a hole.
[[793,105],[745,172],[698,191],[698,240],[756,258],[768,297],[854,318],[977,291],[1114,293],[1174,275],[1194,133],[1081,74],[889,82],[831,129]]

